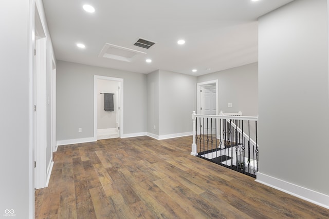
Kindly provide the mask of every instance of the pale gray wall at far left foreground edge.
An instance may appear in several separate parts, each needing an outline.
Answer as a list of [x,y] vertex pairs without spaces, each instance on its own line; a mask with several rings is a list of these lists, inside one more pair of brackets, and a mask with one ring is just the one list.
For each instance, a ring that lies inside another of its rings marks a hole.
[[0,218],[8,218],[4,216],[6,209],[13,209],[16,218],[29,218],[29,201],[34,200],[29,194],[33,186],[29,184],[29,4],[17,0],[0,7],[0,28],[7,33],[0,36]]

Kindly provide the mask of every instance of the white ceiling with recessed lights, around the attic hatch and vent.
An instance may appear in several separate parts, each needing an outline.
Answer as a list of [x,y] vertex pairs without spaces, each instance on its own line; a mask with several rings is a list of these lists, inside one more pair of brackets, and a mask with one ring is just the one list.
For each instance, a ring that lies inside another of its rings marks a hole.
[[[150,73],[202,75],[258,61],[258,17],[293,0],[43,0],[56,58]],[[95,7],[95,13],[82,9]],[[156,44],[133,44],[145,38]],[[185,45],[178,45],[185,39]],[[77,43],[85,44],[81,49]],[[105,43],[146,52],[131,62],[99,57]],[[152,63],[145,59],[151,58]],[[196,73],[192,69],[197,69]]]

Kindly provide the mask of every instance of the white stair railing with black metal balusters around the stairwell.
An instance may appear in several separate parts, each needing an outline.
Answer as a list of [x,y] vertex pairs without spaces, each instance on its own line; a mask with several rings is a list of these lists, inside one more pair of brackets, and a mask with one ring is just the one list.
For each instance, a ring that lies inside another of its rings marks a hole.
[[256,177],[259,171],[258,116],[198,115],[193,111],[191,155]]

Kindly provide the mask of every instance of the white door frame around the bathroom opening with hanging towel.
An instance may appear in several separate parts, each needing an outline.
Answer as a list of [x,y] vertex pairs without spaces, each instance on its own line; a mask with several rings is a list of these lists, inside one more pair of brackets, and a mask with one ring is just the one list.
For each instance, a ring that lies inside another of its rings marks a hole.
[[117,110],[119,111],[119,137],[123,136],[123,78],[118,77],[107,77],[94,75],[94,140],[97,141],[97,79],[103,79],[108,81],[116,81],[119,82],[119,95],[117,97],[117,101],[119,104],[117,105]]

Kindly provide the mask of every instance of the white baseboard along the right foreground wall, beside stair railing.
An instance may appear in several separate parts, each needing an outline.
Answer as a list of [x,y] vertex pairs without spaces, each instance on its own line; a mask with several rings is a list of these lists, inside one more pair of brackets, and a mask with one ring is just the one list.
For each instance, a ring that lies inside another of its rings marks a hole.
[[289,182],[285,182],[260,172],[257,172],[257,180],[255,181],[290,195],[299,197],[307,202],[329,209],[329,195],[322,194],[320,192],[313,191]]

